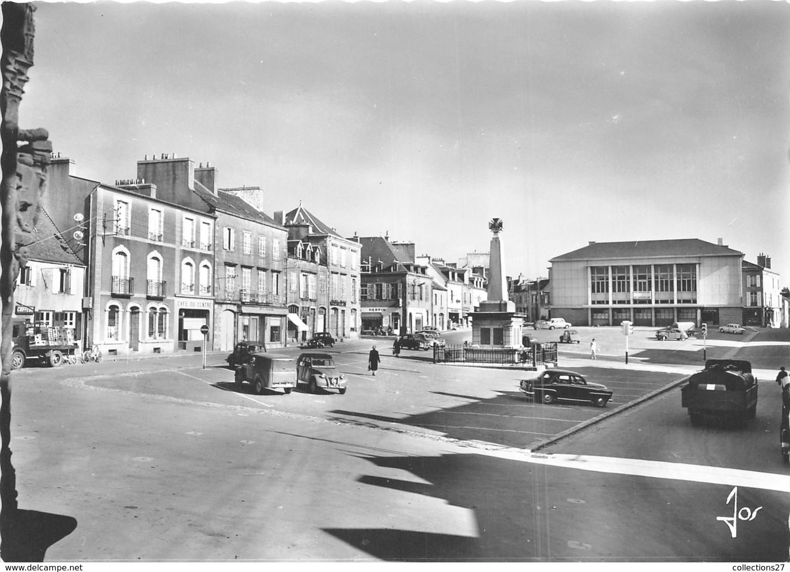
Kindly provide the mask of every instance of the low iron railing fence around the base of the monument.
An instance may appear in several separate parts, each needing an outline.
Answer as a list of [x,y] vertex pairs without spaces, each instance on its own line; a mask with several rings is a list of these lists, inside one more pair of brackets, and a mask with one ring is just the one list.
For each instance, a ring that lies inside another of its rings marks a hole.
[[434,363],[474,363],[532,366],[557,364],[557,342],[526,348],[480,348],[464,345],[434,346]]

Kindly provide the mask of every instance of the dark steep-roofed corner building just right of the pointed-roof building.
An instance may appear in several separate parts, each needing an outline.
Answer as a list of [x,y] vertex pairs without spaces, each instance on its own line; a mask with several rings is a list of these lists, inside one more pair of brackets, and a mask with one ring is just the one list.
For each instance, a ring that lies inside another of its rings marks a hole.
[[416,262],[414,243],[359,237],[363,330],[406,334],[431,324],[433,279]]

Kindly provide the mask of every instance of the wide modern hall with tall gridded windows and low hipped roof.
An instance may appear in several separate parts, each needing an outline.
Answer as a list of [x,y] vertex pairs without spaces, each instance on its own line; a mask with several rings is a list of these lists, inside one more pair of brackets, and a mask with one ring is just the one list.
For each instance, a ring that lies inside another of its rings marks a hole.
[[743,252],[718,242],[590,242],[555,256],[551,317],[593,326],[740,322]]

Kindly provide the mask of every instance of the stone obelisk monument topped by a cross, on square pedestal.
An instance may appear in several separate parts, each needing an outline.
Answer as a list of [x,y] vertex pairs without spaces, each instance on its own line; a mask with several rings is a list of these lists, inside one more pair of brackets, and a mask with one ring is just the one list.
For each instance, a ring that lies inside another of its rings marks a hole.
[[511,349],[521,346],[526,315],[516,312],[516,305],[507,295],[507,277],[502,257],[502,219],[491,219],[487,301],[480,302],[478,312],[472,312],[472,345],[481,348]]

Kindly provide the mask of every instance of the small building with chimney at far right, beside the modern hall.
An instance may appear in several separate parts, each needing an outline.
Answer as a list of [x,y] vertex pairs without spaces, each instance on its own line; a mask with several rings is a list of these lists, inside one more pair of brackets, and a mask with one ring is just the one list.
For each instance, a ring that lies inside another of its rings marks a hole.
[[771,257],[762,252],[757,264],[743,260],[743,325],[781,327],[780,276],[771,270]]

